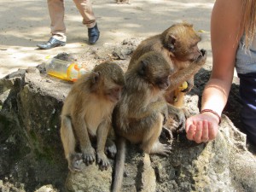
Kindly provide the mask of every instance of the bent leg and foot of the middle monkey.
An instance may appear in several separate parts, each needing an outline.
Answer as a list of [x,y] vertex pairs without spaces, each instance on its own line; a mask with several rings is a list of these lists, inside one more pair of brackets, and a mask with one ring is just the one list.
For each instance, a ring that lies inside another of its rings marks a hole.
[[148,125],[148,131],[144,133],[141,148],[148,154],[161,154],[167,156],[171,153],[171,145],[159,142],[160,133],[162,131],[164,117],[159,113],[153,125]]

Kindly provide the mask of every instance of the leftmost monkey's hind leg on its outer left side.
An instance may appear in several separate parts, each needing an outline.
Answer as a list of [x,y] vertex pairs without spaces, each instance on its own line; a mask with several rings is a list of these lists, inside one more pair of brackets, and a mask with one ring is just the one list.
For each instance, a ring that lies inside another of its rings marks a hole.
[[73,134],[71,119],[65,115],[61,116],[61,142],[69,170],[71,172],[80,172],[82,154],[75,152],[76,140]]

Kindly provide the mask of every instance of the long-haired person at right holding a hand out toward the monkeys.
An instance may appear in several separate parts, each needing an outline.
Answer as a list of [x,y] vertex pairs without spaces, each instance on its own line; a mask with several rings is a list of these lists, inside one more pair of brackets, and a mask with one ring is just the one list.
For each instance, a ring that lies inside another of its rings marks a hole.
[[236,67],[242,101],[241,123],[256,145],[256,0],[216,0],[211,18],[212,74],[202,94],[201,113],[186,121],[195,143],[218,135]]

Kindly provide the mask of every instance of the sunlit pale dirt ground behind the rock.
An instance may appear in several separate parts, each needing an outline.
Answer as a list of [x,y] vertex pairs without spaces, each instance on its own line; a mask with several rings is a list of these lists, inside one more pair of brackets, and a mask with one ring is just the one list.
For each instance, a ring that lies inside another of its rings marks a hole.
[[61,53],[83,55],[91,46],[121,42],[125,38],[148,38],[183,20],[201,32],[201,48],[208,50],[211,62],[210,16],[214,0],[91,0],[101,37],[95,45],[87,44],[87,28],[82,24],[72,0],[66,0],[67,45],[41,50],[37,44],[48,41],[49,12],[47,1],[0,1],[0,79],[18,68],[38,66]]

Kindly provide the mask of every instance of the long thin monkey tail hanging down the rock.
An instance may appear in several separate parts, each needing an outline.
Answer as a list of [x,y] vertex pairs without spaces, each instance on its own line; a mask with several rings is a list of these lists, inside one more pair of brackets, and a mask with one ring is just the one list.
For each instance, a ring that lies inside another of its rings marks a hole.
[[114,167],[114,180],[112,186],[112,192],[120,192],[122,188],[122,181],[125,169],[125,153],[126,153],[126,143],[124,137],[119,137],[118,139],[118,152],[115,158]]

